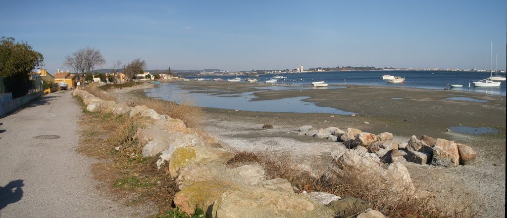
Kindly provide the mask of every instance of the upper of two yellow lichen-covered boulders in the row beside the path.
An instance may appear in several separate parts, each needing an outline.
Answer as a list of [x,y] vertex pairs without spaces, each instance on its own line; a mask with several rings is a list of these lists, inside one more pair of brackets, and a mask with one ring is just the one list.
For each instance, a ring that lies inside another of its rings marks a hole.
[[172,153],[169,160],[169,173],[171,177],[176,178],[179,170],[195,164],[205,164],[212,162],[223,163],[234,157],[234,153],[222,148],[209,148],[202,146],[179,147]]

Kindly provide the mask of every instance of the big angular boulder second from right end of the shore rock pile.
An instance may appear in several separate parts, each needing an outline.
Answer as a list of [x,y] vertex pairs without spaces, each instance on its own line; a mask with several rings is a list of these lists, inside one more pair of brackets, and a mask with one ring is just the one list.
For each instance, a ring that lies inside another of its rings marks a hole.
[[454,141],[437,139],[433,147],[431,165],[452,167],[459,164],[458,145]]

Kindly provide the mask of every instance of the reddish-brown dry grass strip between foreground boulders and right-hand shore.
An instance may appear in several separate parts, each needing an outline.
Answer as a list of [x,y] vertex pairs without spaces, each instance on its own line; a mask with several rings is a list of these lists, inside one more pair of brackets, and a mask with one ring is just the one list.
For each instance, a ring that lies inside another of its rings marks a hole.
[[[389,217],[476,217],[480,207],[467,199],[450,200],[446,205],[437,205],[434,197],[419,191],[396,193],[391,189],[397,181],[386,183],[365,170],[344,168],[330,182],[323,177],[314,177],[311,172],[302,170],[286,154],[273,151],[240,152],[228,164],[240,166],[256,162],[262,165],[268,178],[283,178],[300,191],[321,191],[338,196],[352,196],[369,202],[370,207]],[[353,212],[355,208],[351,208]],[[350,215],[350,214],[349,214]]]

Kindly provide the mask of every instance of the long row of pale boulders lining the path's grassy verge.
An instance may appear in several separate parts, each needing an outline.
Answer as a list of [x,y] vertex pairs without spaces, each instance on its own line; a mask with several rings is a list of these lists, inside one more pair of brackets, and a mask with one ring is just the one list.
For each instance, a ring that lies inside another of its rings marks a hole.
[[[325,205],[337,204],[337,201],[340,201],[339,196],[321,192],[296,194],[293,185],[285,179],[267,180],[264,168],[258,164],[230,168],[225,163],[235,156],[236,152],[233,149],[214,136],[188,128],[179,119],[158,114],[146,106],[129,107],[111,101],[102,101],[79,89],[76,89],[73,95],[83,99],[88,111],[149,118],[144,123],[145,127],[138,129],[135,136],[143,146],[142,156],[159,156],[154,167],[164,167],[168,172],[167,177],[175,180],[179,192],[174,196],[173,202],[189,214],[199,207],[206,211],[207,217],[333,217],[335,215],[333,207]],[[269,128],[269,125],[265,127]],[[301,129],[306,128],[311,128],[311,126],[302,126]],[[327,128],[322,129],[320,133],[317,130],[314,135],[319,133],[320,136],[329,138],[338,130],[338,128]],[[341,152],[335,153],[338,155]],[[342,156],[344,153],[341,153]],[[378,161],[378,157],[376,159]],[[395,168],[390,171],[394,175],[403,169]],[[370,210],[356,215],[363,217],[364,215],[361,214],[373,214],[374,212]]]

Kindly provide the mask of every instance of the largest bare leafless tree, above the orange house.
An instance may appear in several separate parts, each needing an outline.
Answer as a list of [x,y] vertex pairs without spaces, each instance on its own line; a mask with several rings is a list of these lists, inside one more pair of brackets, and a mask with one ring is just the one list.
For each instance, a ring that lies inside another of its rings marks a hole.
[[72,55],[65,56],[65,65],[72,67],[77,73],[90,73],[95,67],[105,64],[100,50],[86,47],[79,49]]

